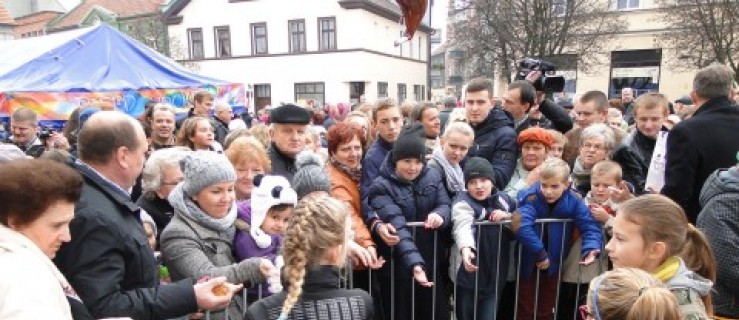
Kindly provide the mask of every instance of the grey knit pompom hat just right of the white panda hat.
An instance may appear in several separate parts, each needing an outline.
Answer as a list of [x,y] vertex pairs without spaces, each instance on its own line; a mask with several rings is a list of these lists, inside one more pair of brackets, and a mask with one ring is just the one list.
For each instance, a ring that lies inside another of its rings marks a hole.
[[320,156],[311,151],[303,151],[295,157],[295,167],[298,170],[293,176],[293,189],[298,194],[298,199],[315,191],[331,192],[331,181]]

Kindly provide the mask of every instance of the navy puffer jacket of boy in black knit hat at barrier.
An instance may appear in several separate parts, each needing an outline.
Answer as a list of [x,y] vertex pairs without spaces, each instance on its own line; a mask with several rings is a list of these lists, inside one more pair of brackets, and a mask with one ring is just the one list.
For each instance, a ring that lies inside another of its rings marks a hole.
[[[410,277],[416,265],[426,265],[426,273],[433,274],[430,263],[441,263],[439,257],[443,257],[442,246],[437,248],[441,252],[436,252],[437,259],[434,261],[434,232],[418,228],[414,241],[413,230],[406,223],[426,221],[432,212],[439,214],[444,223],[438,228],[437,243],[445,243],[448,240],[445,230],[451,226],[449,197],[436,170],[424,166],[415,181],[403,181],[395,173],[395,163],[391,159],[392,151],[380,168],[380,176],[369,189],[367,202],[380,220],[395,227],[400,237],[400,242],[394,247],[395,256],[392,257],[397,262],[396,274]],[[384,242],[378,242],[378,246],[380,253],[389,258],[390,248]],[[382,270],[389,269],[388,265],[386,263]]]

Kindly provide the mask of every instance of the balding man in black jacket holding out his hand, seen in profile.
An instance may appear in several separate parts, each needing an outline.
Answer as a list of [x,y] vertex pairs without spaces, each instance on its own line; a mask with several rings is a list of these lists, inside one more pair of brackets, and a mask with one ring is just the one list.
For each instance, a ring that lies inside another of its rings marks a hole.
[[78,144],[80,159],[69,165],[84,177],[82,196],[69,225],[72,240],[54,263],[93,317],[169,319],[226,307],[240,285],[215,296],[212,288],[225,277],[159,285],[140,208],[128,193],[148,149],[139,122],[116,111],[98,112],[80,131]]

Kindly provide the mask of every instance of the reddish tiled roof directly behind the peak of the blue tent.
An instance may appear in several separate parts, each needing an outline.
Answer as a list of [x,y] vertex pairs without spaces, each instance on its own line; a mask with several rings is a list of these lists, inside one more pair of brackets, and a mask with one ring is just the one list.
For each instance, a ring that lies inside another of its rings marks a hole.
[[69,29],[80,26],[90,11],[103,8],[119,17],[158,13],[165,0],[82,0],[67,14],[49,23],[49,29]]

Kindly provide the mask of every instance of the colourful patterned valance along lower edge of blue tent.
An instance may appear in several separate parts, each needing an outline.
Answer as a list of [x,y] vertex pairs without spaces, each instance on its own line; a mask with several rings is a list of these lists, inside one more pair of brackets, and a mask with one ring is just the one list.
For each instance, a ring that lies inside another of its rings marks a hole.
[[189,102],[198,91],[213,93],[216,102],[225,102],[235,110],[249,108],[246,87],[243,84],[205,85],[179,89],[142,89],[112,92],[2,92],[0,93],[0,117],[8,117],[20,107],[33,109],[40,120],[67,120],[79,106],[97,106],[101,109],[118,109],[133,117],[144,112],[149,101],[166,102],[177,113],[185,113]]

